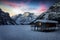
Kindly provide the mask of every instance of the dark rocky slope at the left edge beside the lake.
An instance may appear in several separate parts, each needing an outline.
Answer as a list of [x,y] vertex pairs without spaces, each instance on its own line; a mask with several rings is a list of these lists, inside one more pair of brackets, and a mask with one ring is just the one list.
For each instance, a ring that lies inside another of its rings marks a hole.
[[6,13],[0,9],[0,25],[16,24],[16,22],[10,18],[9,13]]

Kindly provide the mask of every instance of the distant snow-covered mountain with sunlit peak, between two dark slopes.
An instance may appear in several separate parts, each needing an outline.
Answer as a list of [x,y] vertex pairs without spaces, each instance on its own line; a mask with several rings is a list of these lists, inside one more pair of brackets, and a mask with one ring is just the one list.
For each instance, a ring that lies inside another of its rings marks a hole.
[[17,16],[15,16],[15,21],[17,24],[30,24],[33,20],[36,19],[36,15],[34,15],[34,13],[30,13],[30,12],[26,12],[24,14],[19,14]]

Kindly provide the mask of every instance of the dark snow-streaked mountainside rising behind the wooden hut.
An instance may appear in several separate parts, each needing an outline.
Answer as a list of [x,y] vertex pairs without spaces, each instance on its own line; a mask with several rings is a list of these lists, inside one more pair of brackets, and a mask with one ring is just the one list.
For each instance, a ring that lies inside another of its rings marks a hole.
[[[55,3],[52,5],[47,12],[42,13],[39,15],[34,21],[36,20],[56,20],[60,23],[60,2]],[[32,23],[34,23],[34,21]]]

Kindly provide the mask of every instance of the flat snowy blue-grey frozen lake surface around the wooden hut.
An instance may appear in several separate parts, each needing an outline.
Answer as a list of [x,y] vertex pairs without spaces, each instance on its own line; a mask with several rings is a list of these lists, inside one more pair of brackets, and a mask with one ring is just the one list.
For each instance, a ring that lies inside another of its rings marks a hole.
[[60,31],[36,32],[30,25],[3,25],[0,40],[60,40]]

